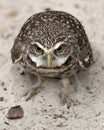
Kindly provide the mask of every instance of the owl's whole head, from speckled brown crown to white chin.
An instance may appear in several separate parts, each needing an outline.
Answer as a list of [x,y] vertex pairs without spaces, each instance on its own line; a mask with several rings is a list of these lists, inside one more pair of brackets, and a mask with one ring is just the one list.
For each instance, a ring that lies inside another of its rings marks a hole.
[[54,68],[66,63],[77,43],[75,20],[64,12],[33,15],[21,29],[27,53],[36,67]]

